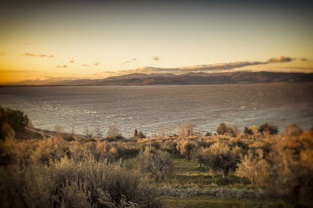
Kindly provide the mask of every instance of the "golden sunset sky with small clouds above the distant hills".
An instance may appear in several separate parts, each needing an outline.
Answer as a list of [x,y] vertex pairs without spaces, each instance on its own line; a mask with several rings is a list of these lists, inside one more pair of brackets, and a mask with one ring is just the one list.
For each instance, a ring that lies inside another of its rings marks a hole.
[[308,1],[10,1],[0,8],[0,84],[181,69],[312,73],[312,20]]

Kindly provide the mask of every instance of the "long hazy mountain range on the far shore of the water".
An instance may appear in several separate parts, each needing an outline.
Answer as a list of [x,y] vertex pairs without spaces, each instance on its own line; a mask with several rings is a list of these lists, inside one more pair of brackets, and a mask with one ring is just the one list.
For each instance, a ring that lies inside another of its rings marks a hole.
[[[76,79],[38,83],[33,85],[219,85],[240,83],[300,83],[313,82],[313,74],[268,71],[238,71],[208,74],[127,74],[104,79]],[[25,82],[27,83],[27,82]]]

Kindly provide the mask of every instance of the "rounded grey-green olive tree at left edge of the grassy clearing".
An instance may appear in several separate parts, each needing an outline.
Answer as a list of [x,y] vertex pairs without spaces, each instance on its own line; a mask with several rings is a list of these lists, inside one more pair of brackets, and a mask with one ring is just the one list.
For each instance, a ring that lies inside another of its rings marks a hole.
[[146,146],[138,154],[138,168],[142,173],[149,173],[156,184],[164,181],[164,177],[173,168],[171,156],[152,146]]

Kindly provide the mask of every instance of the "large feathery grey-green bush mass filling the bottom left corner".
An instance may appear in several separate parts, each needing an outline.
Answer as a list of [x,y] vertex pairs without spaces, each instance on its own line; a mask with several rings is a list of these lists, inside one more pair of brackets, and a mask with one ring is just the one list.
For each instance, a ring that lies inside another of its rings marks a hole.
[[[0,169],[1,207],[160,207],[158,192],[120,164],[62,158],[53,165]],[[130,206],[128,206],[130,207]]]

